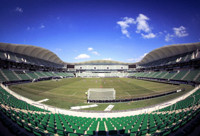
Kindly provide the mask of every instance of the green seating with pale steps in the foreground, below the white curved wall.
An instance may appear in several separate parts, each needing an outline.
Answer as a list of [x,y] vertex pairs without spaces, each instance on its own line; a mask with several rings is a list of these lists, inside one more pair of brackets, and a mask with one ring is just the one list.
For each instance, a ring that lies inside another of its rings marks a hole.
[[[169,135],[200,113],[200,89],[176,107],[127,117],[86,118],[54,114],[36,108],[1,91],[0,110],[13,122],[36,136],[60,135]],[[8,96],[10,99],[7,99]],[[192,99],[195,97],[195,99]],[[172,107],[175,105],[172,105]],[[26,108],[29,107],[29,108]],[[34,111],[34,112],[33,112]]]

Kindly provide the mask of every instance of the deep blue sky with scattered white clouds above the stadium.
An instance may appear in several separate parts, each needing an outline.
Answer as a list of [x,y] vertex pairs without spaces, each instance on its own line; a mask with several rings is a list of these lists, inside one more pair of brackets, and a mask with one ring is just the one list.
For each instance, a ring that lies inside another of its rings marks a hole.
[[0,0],[0,42],[65,62],[139,61],[164,45],[200,42],[199,0]]

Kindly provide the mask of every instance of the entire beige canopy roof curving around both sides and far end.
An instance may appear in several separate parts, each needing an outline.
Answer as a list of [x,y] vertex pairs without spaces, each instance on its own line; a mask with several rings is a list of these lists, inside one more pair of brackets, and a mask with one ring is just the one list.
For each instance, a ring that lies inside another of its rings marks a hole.
[[[167,45],[155,49],[149,52],[138,64],[146,64],[152,61],[156,61],[163,58],[168,58],[171,56],[191,52],[194,50],[200,50],[200,42],[198,43],[189,43],[189,44],[175,44],[175,45]],[[19,53],[43,60],[47,60],[50,62],[58,63],[58,64],[70,64],[63,62],[55,53],[32,45],[22,45],[22,44],[10,44],[10,43],[0,43],[0,50],[10,51],[13,53]],[[136,64],[136,63],[123,63],[117,61],[108,61],[108,60],[94,60],[94,61],[86,61],[74,64]],[[71,63],[73,64],[73,63]]]

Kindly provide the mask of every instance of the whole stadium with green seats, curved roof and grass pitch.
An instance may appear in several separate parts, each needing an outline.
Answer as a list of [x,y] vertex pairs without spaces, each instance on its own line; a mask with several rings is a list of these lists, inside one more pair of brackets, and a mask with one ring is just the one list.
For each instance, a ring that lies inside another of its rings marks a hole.
[[0,43],[0,60],[1,120],[17,135],[182,135],[200,119],[200,43],[163,46],[136,63],[66,63]]

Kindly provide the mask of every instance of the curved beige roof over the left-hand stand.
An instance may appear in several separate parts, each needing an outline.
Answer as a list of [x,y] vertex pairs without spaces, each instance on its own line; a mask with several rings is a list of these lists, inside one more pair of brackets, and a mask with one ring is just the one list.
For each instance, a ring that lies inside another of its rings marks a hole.
[[13,53],[19,53],[22,55],[27,55],[50,62],[63,64],[64,62],[53,52],[32,45],[22,45],[22,44],[10,44],[10,43],[0,43],[0,50],[9,51]]

